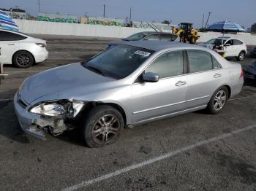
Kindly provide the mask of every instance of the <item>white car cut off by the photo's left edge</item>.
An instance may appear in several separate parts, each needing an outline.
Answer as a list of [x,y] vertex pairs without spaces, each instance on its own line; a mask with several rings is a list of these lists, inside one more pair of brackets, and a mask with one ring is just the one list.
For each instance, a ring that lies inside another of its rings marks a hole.
[[0,29],[0,63],[27,68],[48,58],[46,41],[26,34]]

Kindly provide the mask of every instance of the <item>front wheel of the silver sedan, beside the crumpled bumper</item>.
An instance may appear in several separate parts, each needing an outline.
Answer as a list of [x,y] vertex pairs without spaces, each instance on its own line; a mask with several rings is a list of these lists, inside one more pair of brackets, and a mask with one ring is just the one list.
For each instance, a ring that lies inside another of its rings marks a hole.
[[91,148],[114,143],[124,128],[121,113],[112,106],[96,106],[87,116],[83,120],[82,136]]

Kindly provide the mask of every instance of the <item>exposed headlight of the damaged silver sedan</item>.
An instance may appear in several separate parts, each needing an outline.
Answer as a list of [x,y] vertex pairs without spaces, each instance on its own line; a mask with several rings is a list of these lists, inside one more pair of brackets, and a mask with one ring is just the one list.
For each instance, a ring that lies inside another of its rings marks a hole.
[[50,117],[59,117],[66,113],[66,109],[61,104],[39,104],[32,107],[29,112],[34,114],[42,114]]

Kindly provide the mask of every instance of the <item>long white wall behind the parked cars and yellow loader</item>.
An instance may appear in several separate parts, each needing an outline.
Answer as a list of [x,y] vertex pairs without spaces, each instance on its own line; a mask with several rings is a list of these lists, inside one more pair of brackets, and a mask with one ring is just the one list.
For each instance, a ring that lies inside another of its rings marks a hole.
[[[150,31],[143,28],[128,28],[118,26],[94,26],[72,23],[50,23],[37,20],[17,20],[15,23],[20,31],[29,34],[59,34],[59,35],[75,35],[75,36],[97,36],[97,37],[113,37],[125,38],[131,34],[140,31]],[[153,29],[152,29],[153,31]],[[200,33],[198,42],[206,42],[209,39],[222,36],[221,33],[207,32]],[[252,34],[225,34],[243,40],[246,44],[256,45],[256,35]]]

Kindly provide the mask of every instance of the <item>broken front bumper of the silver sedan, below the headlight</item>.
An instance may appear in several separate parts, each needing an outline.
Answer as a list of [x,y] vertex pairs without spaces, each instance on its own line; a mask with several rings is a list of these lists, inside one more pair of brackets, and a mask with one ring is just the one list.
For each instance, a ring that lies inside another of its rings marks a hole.
[[43,117],[39,114],[29,112],[31,105],[20,98],[18,92],[14,97],[15,113],[18,117],[20,127],[29,135],[38,139],[46,140],[46,133],[58,136],[65,130],[72,129],[72,126],[64,123],[64,119],[56,117]]

